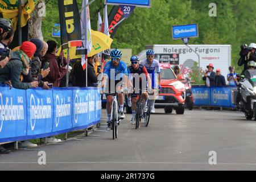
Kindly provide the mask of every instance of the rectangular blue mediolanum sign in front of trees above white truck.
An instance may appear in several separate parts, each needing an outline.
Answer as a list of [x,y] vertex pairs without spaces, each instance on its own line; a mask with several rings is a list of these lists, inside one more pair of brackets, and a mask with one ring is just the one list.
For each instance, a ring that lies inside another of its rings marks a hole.
[[199,36],[197,24],[172,26],[172,38],[196,38]]

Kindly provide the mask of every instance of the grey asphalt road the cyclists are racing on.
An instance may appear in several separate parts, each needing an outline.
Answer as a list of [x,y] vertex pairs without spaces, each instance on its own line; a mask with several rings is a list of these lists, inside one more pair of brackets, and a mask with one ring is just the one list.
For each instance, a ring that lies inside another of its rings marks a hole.
[[[0,155],[0,170],[256,170],[256,122],[242,113],[156,111],[139,130],[126,115],[112,140],[104,131],[104,110],[101,127],[89,137]],[[46,165],[38,164],[39,151],[46,152]],[[216,165],[209,164],[210,151]]]

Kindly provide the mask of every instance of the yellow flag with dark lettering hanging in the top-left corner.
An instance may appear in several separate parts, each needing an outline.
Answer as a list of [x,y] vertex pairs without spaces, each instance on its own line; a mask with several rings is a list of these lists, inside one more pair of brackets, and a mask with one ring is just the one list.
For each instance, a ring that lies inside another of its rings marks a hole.
[[[28,19],[31,18],[30,14],[35,10],[35,6],[38,0],[27,0],[22,7],[21,16],[21,27],[26,26]],[[19,3],[18,0],[1,0],[0,1],[0,13],[2,13],[3,18],[13,20],[13,27],[16,30],[18,23],[18,13],[19,13]]]

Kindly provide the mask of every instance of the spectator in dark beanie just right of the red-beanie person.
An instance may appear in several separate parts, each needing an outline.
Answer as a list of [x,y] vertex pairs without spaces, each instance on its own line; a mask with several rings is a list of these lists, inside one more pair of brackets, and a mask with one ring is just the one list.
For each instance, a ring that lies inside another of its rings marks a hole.
[[42,78],[46,77],[49,74],[50,69],[41,68],[42,57],[46,55],[46,52],[48,50],[48,44],[40,39],[31,39],[30,42],[36,45],[36,52],[34,54],[31,65],[33,80],[38,81],[38,86],[42,87],[43,89],[49,89],[49,86],[47,85],[48,82],[44,82]]

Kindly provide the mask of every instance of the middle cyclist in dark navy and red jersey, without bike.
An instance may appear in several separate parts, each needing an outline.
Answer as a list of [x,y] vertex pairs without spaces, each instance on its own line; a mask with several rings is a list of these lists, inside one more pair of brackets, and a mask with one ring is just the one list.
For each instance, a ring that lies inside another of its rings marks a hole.
[[143,108],[144,112],[146,112],[148,94],[145,91],[147,90],[147,84],[149,88],[151,88],[151,79],[148,75],[146,67],[139,64],[138,56],[131,56],[131,65],[128,67],[128,73],[129,85],[133,88],[134,92],[129,94],[127,99],[131,102],[131,112],[133,114],[133,117],[131,118],[131,125],[135,125],[137,97],[140,90],[142,90]]

